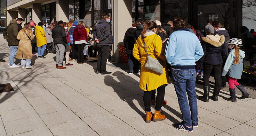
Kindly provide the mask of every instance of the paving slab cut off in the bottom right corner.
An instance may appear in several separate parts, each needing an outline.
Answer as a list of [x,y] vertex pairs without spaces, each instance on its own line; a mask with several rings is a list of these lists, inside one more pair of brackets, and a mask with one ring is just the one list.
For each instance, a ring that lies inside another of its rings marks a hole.
[[241,124],[226,130],[226,132],[233,136],[255,136],[256,128],[246,124]]

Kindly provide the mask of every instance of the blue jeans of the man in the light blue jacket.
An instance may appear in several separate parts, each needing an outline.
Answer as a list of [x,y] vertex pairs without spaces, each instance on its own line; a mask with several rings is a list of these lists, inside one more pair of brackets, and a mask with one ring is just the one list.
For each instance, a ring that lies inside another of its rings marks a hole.
[[[198,123],[197,97],[195,96],[195,80],[195,69],[173,70],[173,84],[178,97],[178,103],[182,113],[183,124],[186,126],[192,126],[192,122]],[[186,93],[189,97],[189,104],[187,103]]]

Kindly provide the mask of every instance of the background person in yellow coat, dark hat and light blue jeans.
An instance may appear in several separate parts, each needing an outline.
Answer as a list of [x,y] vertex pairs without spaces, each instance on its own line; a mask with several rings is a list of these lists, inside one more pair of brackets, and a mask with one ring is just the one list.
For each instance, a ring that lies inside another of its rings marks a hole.
[[37,47],[38,47],[38,57],[40,58],[46,58],[43,56],[43,53],[45,52],[47,40],[45,31],[43,30],[43,23],[39,22],[38,26],[35,27],[35,36],[37,37]]

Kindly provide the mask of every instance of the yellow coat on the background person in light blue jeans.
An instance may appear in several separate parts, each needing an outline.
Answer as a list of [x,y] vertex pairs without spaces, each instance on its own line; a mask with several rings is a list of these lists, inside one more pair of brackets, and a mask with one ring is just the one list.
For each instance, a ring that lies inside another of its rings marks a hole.
[[36,26],[35,27],[35,36],[37,37],[37,47],[41,47],[45,44],[47,44],[45,31],[43,30],[43,27]]

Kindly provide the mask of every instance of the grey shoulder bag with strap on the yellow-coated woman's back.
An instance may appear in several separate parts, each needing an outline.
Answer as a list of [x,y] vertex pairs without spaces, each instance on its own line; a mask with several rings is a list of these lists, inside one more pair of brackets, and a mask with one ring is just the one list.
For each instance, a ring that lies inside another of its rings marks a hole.
[[163,63],[162,61],[159,61],[157,59],[154,59],[152,57],[149,56],[149,54],[147,53],[147,48],[146,45],[144,43],[144,40],[142,40],[144,47],[145,47],[145,51],[147,54],[147,63],[145,64],[145,67],[149,70],[152,70],[154,72],[157,72],[159,74],[163,74]]

